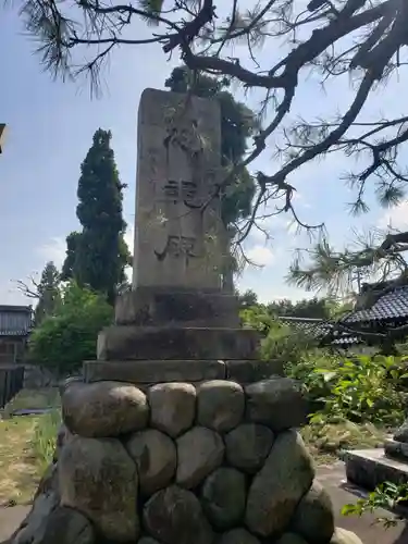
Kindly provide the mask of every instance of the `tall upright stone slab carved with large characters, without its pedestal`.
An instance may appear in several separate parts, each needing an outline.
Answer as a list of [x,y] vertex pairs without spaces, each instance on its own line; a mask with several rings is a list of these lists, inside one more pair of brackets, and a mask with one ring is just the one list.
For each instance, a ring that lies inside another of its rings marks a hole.
[[138,120],[133,287],[220,292],[220,107],[148,89]]

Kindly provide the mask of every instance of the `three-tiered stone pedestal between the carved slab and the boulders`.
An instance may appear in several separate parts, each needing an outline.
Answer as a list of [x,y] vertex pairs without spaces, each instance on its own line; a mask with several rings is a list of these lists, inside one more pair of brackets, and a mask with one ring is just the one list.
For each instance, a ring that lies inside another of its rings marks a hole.
[[237,299],[221,292],[136,289],[119,297],[115,323],[98,336],[87,382],[140,387],[159,381],[238,380],[282,375],[282,361],[259,360],[259,334],[239,329]]

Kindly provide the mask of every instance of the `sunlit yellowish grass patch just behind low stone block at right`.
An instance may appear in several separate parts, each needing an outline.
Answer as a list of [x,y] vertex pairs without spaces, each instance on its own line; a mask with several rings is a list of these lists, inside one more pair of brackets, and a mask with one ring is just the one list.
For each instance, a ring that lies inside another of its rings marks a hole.
[[310,424],[301,430],[304,441],[318,463],[335,461],[343,449],[382,447],[388,434],[387,429],[350,421]]

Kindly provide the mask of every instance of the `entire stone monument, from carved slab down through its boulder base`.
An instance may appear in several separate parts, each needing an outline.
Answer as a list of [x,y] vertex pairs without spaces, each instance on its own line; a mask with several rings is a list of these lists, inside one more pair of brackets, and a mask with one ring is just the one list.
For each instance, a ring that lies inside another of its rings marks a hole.
[[301,386],[257,360],[221,288],[217,102],[146,90],[138,150],[133,290],[85,383],[62,386],[54,460],[10,544],[358,544],[296,431]]

